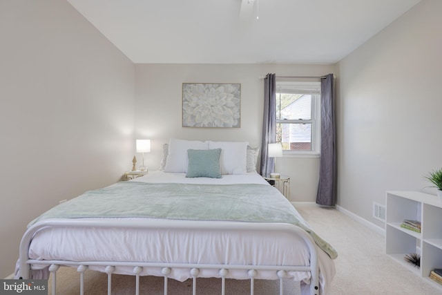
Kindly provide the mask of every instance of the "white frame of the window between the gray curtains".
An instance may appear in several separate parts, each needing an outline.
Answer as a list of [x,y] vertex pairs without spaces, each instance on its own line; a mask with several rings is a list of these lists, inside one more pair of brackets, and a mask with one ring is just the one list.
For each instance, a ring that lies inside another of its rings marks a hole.
[[[298,81],[276,80],[275,99],[278,99],[279,93],[312,95],[310,120],[279,120],[278,118],[276,118],[276,124],[311,123],[311,151],[282,150],[284,157],[296,157],[296,158],[320,157],[320,82],[298,82]],[[278,110],[276,110],[276,112],[278,112]]]

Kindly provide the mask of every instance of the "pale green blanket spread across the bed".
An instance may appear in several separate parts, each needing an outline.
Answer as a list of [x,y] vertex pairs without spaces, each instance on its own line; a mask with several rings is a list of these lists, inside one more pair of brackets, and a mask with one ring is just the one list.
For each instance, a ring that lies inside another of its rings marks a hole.
[[30,222],[49,218],[148,217],[178,220],[282,222],[305,229],[330,258],[338,254],[298,211],[265,184],[151,184],[118,182],[61,203]]

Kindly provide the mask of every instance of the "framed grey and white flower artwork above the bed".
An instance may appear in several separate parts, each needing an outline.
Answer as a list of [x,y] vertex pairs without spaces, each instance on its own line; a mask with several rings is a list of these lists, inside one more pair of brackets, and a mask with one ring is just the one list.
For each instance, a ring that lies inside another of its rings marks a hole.
[[182,84],[183,127],[240,127],[241,84]]

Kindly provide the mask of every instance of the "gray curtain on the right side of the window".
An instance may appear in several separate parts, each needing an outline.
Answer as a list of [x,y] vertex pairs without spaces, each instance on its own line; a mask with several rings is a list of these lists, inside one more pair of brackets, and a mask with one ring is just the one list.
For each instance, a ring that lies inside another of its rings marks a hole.
[[318,195],[316,203],[334,206],[336,203],[336,135],[334,122],[333,74],[321,79],[321,143]]

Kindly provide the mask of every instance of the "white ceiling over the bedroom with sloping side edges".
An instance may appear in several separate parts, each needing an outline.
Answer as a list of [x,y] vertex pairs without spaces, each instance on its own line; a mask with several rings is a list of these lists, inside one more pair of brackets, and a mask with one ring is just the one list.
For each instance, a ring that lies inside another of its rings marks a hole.
[[333,64],[421,0],[67,1],[137,64]]

